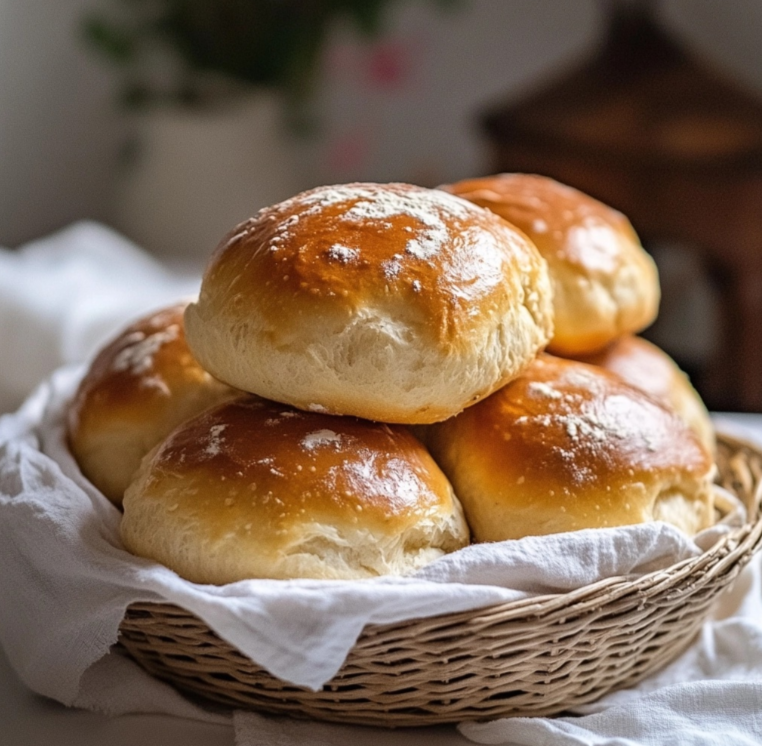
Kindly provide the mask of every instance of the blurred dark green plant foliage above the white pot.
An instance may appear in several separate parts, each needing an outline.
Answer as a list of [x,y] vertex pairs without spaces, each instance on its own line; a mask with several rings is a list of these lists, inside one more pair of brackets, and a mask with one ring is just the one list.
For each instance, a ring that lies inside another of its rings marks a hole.
[[[289,116],[298,119],[314,89],[332,26],[346,19],[363,35],[377,36],[401,1],[112,0],[112,17],[118,20],[89,14],[83,28],[91,47],[129,73],[121,98],[125,105],[159,100],[197,105],[214,95],[204,79],[215,74],[243,86],[282,91]],[[429,1],[448,8],[463,2]],[[156,59],[166,60],[167,54],[177,64],[174,81],[166,80],[166,70],[156,69]],[[154,90],[157,72],[160,91]]]

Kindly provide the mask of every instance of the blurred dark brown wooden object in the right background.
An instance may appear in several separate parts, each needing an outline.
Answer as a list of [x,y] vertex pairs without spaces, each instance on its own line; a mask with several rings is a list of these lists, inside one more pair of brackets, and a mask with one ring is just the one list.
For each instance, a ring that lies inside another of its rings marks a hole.
[[576,71],[483,118],[493,171],[552,176],[622,210],[646,244],[688,244],[718,283],[702,393],[762,411],[762,102],[670,37],[654,3],[609,4]]

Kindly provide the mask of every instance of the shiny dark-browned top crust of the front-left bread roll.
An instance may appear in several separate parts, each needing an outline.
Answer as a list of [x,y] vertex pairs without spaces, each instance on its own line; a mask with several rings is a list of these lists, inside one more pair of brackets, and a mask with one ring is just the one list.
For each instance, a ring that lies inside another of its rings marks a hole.
[[[214,503],[221,529],[239,511],[245,518],[254,502],[258,520],[275,533],[305,513],[310,520],[362,520],[393,532],[414,515],[451,506],[447,479],[405,428],[300,412],[255,397],[223,404],[179,428],[150,468],[154,493],[165,480],[173,485],[179,473],[194,480],[199,491],[183,499]],[[211,510],[209,529],[216,523]]]

